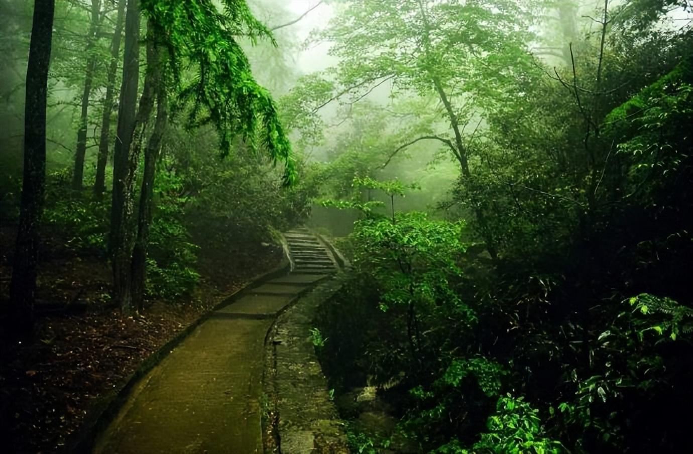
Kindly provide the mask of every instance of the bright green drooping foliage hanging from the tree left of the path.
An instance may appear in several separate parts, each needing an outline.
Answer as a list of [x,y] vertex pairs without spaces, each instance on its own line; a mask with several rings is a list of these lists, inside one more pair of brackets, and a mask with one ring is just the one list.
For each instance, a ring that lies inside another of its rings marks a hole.
[[[217,130],[222,155],[235,137],[251,150],[261,145],[274,163],[284,161],[284,182],[297,174],[291,146],[269,92],[256,83],[250,63],[236,40],[245,35],[274,38],[250,12],[245,0],[225,0],[222,11],[207,1],[142,1],[142,10],[166,36],[170,73],[179,82],[179,100],[189,104],[188,127],[211,123]],[[194,76],[184,80],[184,69]],[[182,106],[181,106],[182,107]],[[259,143],[258,143],[259,136]]]

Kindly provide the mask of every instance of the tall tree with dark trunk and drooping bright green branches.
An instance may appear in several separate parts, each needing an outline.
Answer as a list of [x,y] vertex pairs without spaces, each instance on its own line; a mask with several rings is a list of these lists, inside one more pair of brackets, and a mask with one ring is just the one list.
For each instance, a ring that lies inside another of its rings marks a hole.
[[[128,1],[128,16],[131,14]],[[260,24],[251,14],[243,0],[225,0],[220,14],[216,6],[204,0],[166,1],[144,0],[142,11],[148,17],[148,42],[155,37],[166,37],[168,64],[166,71],[177,84],[179,105],[191,106],[188,114],[188,126],[195,127],[212,123],[220,138],[222,155],[226,155],[235,137],[240,136],[249,148],[257,148],[256,140],[261,139],[261,146],[276,162],[285,161],[284,179],[287,184],[295,180],[294,160],[288,138],[277,116],[277,110],[270,94],[260,87],[252,77],[250,64],[243,49],[236,42],[235,36],[269,37],[269,30]],[[128,53],[130,26],[126,18],[125,52]],[[156,33],[155,33],[156,32]],[[134,35],[134,32],[133,32]],[[274,40],[272,40],[274,43]],[[131,43],[132,44],[132,43]],[[128,56],[125,55],[125,66]],[[158,62],[158,59],[150,60]],[[184,74],[188,69],[194,71],[193,78],[186,80]],[[129,77],[132,77],[129,73]],[[137,115],[125,119],[119,114],[119,130],[124,130],[116,142],[114,154],[114,186],[111,224],[111,250],[114,269],[114,294],[123,313],[129,313],[133,307],[132,294],[132,254],[135,244],[134,222],[134,174],[137,170],[139,152],[143,140],[144,125],[154,105],[155,81],[157,71],[148,71],[145,86],[139,103]],[[125,95],[126,74],[123,69],[122,100]],[[131,100],[130,96],[127,96]],[[166,108],[159,103],[159,108]],[[163,112],[162,112],[163,113]],[[128,113],[129,115],[129,113]],[[159,121],[165,120],[162,115]],[[258,134],[258,132],[260,134]],[[127,143],[126,143],[127,141]],[[154,145],[154,143],[152,143]],[[153,163],[150,162],[153,165]],[[148,169],[152,171],[153,168]],[[152,173],[148,186],[154,184]],[[150,187],[145,188],[150,191]],[[145,194],[148,198],[148,193]],[[144,200],[142,222],[148,221],[148,200]],[[146,226],[142,234],[146,234]],[[140,238],[139,247],[146,248],[146,238]],[[137,266],[143,266],[143,254],[138,250]],[[138,279],[142,276],[137,272]],[[143,278],[141,278],[143,279]],[[142,281],[139,281],[141,284]],[[138,301],[141,302],[143,286],[138,287]]]

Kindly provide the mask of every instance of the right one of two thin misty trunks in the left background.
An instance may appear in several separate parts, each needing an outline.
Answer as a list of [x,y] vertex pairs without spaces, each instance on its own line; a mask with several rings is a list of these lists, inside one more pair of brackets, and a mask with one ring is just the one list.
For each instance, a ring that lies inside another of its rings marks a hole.
[[106,97],[103,100],[103,115],[101,116],[101,136],[98,141],[98,158],[96,161],[96,180],[94,181],[94,193],[101,195],[106,191],[106,164],[108,161],[108,145],[111,135],[111,112],[113,111],[113,98],[116,87],[116,71],[118,71],[118,58],[121,53],[121,39],[123,37],[123,16],[125,16],[125,4],[127,0],[118,1],[118,15],[116,27],[111,42],[111,64],[108,68],[106,82]]

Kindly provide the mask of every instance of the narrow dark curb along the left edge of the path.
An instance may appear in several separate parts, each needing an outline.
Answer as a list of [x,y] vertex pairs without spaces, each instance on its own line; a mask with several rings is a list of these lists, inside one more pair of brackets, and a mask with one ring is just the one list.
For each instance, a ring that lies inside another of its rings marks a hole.
[[121,406],[125,401],[127,401],[130,392],[139,382],[139,379],[145,376],[152,370],[157,364],[163,360],[172,349],[174,349],[182,340],[188,337],[195,329],[207,320],[215,311],[220,308],[228,306],[233,303],[236,299],[239,299],[249,290],[258,286],[259,283],[264,281],[269,281],[275,277],[279,277],[282,274],[286,274],[291,269],[291,261],[289,259],[286,239],[281,236],[279,240],[282,243],[283,256],[281,262],[272,270],[258,274],[256,277],[250,279],[245,286],[236,290],[228,297],[225,297],[220,303],[216,304],[207,313],[202,314],[198,320],[195,320],[188,326],[186,326],[182,331],[179,331],[173,336],[168,342],[159,347],[157,351],[152,353],[150,356],[145,358],[137,369],[125,378],[121,384],[116,387],[115,390],[109,392],[105,396],[99,397],[91,405],[91,408],[87,412],[87,417],[85,417],[82,423],[82,428],[78,430],[69,441],[65,444],[65,448],[62,450],[64,453],[75,453],[75,454],[90,454],[94,448],[94,442],[96,437],[100,434],[108,425],[111,423],[114,417],[118,414]]

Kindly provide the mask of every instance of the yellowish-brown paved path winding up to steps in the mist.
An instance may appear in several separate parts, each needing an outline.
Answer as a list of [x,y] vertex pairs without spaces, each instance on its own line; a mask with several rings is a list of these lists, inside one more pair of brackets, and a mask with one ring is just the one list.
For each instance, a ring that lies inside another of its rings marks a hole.
[[263,452],[264,342],[274,318],[336,270],[306,229],[286,233],[292,271],[214,312],[144,376],[94,453]]

